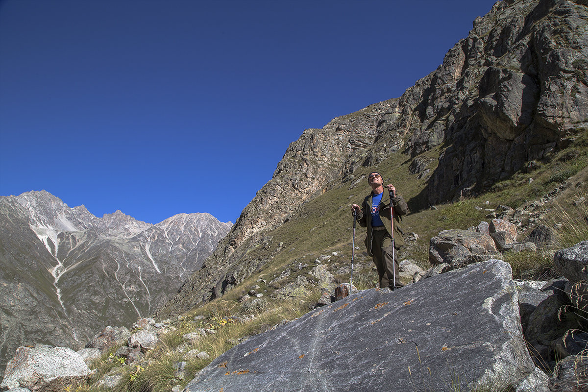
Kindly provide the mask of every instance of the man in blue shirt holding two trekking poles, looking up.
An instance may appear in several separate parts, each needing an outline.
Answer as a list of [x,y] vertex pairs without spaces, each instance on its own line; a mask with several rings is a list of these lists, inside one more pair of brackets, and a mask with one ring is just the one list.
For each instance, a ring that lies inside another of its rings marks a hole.
[[372,187],[372,193],[363,200],[361,207],[356,204],[352,205],[352,213],[356,213],[359,226],[368,228],[365,244],[368,254],[372,256],[373,262],[376,264],[380,288],[389,287],[390,290],[394,290],[404,285],[400,283],[398,263],[393,257],[392,226],[395,248],[400,250],[404,244],[400,217],[408,213],[408,206],[402,196],[396,193],[396,188],[392,184],[387,185],[386,189],[392,195],[391,201],[394,208],[394,222],[392,222],[390,199],[383,196],[384,180],[382,176],[376,172],[370,173],[368,183]]

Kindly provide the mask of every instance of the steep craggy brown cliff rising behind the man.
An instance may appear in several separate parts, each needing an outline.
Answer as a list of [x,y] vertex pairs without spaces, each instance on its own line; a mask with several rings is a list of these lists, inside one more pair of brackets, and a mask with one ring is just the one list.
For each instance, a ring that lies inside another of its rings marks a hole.
[[205,262],[206,272],[193,274],[159,313],[222,296],[267,261],[249,259],[247,249],[302,203],[353,186],[362,181],[358,169],[392,153],[405,153],[411,173],[428,178],[413,200],[427,207],[485,190],[573,143],[588,127],[587,19],[582,2],[497,2],[439,68],[400,98],[305,130]]

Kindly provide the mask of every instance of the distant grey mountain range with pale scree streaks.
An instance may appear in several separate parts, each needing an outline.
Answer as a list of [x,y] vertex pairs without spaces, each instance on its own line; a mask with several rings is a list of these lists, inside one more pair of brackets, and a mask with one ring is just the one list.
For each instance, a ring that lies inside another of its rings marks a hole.
[[45,191],[0,197],[0,371],[19,345],[81,349],[105,325],[148,316],[230,226],[208,214],[98,218]]

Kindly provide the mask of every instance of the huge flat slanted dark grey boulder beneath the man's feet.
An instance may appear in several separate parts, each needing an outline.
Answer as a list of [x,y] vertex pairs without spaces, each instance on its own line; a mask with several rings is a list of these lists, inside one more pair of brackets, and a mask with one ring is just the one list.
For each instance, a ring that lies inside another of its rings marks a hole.
[[516,387],[534,371],[517,297],[500,260],[363,290],[233,347],[186,391]]

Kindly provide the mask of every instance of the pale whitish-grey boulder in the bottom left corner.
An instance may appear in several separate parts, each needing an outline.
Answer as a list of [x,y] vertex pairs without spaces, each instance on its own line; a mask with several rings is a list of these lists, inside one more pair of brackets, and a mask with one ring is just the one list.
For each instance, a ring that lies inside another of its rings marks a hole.
[[37,344],[16,350],[6,366],[0,388],[61,392],[64,387],[86,380],[91,374],[92,371],[74,350]]

